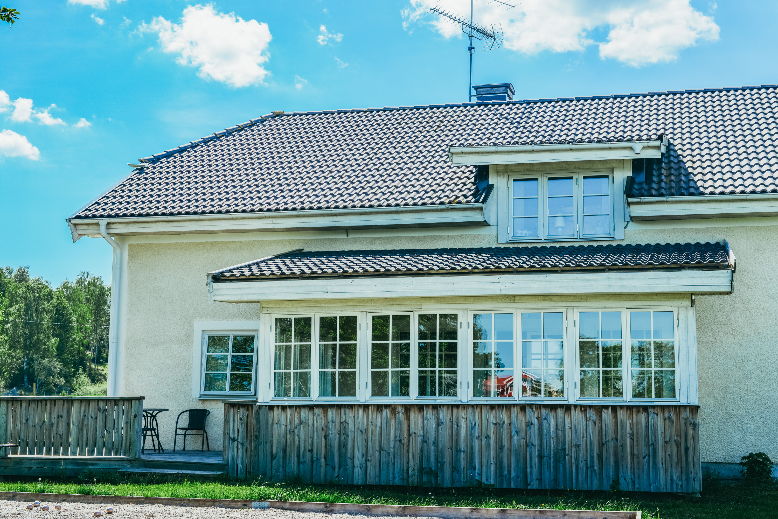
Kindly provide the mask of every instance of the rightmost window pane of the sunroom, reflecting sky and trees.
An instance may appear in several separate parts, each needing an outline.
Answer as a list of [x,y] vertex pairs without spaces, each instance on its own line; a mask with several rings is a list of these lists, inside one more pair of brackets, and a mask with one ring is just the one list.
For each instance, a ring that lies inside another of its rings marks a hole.
[[633,398],[675,398],[675,313],[629,312]]

